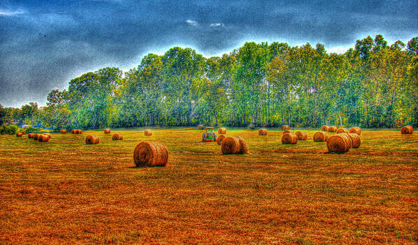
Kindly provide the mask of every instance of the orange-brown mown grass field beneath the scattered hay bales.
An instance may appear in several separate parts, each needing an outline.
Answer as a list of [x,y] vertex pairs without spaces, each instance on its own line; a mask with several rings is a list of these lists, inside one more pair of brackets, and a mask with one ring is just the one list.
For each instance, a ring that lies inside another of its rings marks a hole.
[[[417,244],[417,132],[363,130],[345,154],[281,132],[228,129],[248,155],[195,129],[0,135],[0,244]],[[167,166],[134,168],[143,140]]]

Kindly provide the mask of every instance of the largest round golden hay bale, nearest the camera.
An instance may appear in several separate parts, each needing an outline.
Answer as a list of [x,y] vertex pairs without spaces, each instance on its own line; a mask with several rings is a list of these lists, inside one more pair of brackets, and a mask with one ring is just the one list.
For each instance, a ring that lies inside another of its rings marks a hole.
[[165,166],[168,161],[167,147],[160,142],[140,142],[133,151],[133,161],[137,167]]

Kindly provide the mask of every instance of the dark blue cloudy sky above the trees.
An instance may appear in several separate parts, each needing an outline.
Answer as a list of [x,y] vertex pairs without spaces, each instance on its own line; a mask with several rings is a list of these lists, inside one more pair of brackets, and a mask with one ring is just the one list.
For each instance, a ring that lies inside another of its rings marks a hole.
[[193,47],[206,57],[246,41],[323,43],[343,52],[382,34],[418,36],[418,1],[0,1],[0,104],[45,105],[52,89],[149,52]]

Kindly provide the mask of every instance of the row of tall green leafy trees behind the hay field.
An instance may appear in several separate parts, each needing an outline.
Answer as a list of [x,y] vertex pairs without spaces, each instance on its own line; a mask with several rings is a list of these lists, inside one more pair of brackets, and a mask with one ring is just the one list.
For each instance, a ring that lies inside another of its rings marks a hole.
[[357,40],[344,54],[318,43],[245,43],[222,57],[191,48],[147,54],[123,72],[102,68],[52,90],[47,106],[0,105],[0,124],[137,126],[418,126],[418,37]]

